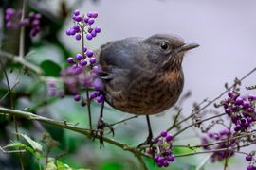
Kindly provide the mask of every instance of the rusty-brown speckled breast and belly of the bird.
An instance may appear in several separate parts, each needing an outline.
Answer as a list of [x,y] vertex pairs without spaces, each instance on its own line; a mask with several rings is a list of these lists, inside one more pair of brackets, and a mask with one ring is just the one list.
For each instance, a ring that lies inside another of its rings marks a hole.
[[118,110],[134,114],[159,113],[174,106],[183,83],[182,71],[143,73],[131,79],[127,89],[110,96],[108,103]]

